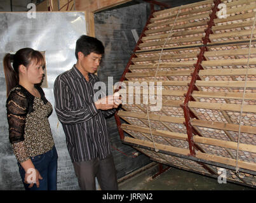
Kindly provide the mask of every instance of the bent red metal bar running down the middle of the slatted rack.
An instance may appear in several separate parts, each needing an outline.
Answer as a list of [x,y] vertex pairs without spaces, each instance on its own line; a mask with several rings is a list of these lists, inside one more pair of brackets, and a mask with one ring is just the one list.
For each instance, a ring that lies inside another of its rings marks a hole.
[[[210,42],[209,35],[212,34],[212,26],[214,25],[213,20],[215,18],[217,18],[216,12],[219,10],[218,5],[220,3],[221,3],[220,0],[215,0],[214,1],[214,6],[212,8],[212,13],[210,14],[210,20],[208,22],[208,27],[205,30],[205,37],[202,38],[204,45],[206,45],[207,43]],[[206,46],[203,46],[200,49],[201,50],[200,50],[200,53],[198,55],[198,61],[196,62],[196,64],[194,64],[195,69],[194,69],[194,72],[192,74],[192,79],[191,79],[191,82],[189,84],[189,89],[187,90],[187,94],[185,96],[184,103],[183,103],[183,105],[181,105],[181,107],[184,110],[184,117],[185,117],[184,124],[185,124],[185,127],[187,128],[187,141],[189,142],[189,152],[190,152],[189,155],[192,155],[192,156],[195,156],[196,153],[195,153],[195,150],[194,150],[195,145],[194,145],[194,141],[193,141],[193,131],[194,130],[193,130],[192,125],[191,125],[192,115],[191,115],[191,110],[188,107],[188,103],[189,103],[189,101],[192,100],[192,92],[196,88],[195,84],[196,84],[196,80],[198,79],[199,70],[203,69],[203,67],[201,67],[201,62],[203,60],[206,60],[205,56],[204,56],[205,51],[207,51]]]

